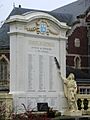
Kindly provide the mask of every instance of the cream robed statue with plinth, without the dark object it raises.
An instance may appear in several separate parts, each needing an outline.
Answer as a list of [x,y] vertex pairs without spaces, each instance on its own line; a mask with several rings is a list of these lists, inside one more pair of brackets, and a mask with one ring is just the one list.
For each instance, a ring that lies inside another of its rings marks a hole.
[[64,81],[64,93],[68,102],[68,109],[64,112],[64,115],[82,116],[82,111],[79,111],[77,107],[77,84],[74,74],[70,73],[67,78],[64,78],[59,70],[59,76]]

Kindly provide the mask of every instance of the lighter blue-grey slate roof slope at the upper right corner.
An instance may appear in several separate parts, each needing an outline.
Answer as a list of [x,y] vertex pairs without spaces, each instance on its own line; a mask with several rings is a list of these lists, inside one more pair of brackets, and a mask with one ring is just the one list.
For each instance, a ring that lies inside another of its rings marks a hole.
[[72,15],[71,24],[77,19],[76,17],[84,13],[90,6],[90,0],[77,0],[63,7],[53,10],[53,12],[66,13]]

